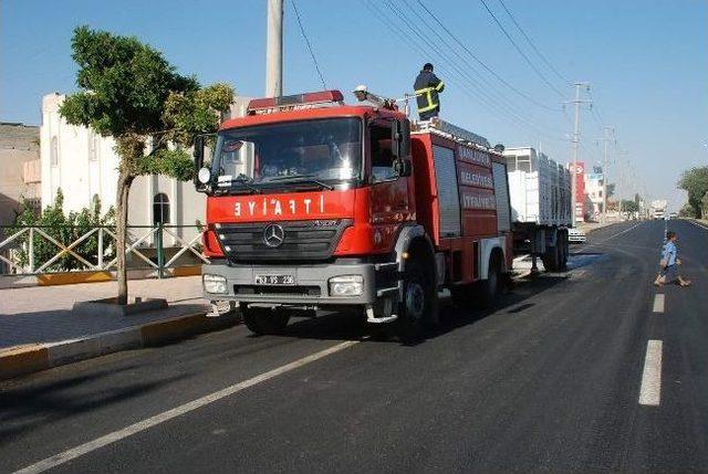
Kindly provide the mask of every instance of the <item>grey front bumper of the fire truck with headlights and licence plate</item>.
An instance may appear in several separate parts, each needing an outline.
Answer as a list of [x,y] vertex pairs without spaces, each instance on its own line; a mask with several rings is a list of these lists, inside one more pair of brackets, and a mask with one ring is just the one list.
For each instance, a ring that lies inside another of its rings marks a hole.
[[[323,264],[219,264],[202,265],[202,275],[226,278],[227,293],[204,293],[206,299],[241,303],[289,304],[303,306],[372,305],[376,302],[377,265],[358,261],[336,261]],[[292,275],[294,285],[257,285],[257,275]],[[331,296],[329,281],[335,276],[361,275],[362,294]],[[379,283],[382,278],[379,277]],[[389,284],[391,286],[391,284]]]

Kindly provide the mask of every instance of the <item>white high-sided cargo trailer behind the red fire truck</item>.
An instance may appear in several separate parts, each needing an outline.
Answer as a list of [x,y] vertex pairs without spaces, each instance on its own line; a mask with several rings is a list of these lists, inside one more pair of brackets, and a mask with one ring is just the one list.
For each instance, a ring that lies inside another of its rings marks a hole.
[[565,167],[532,147],[507,148],[509,198],[516,254],[540,256],[546,271],[568,263],[571,175]]

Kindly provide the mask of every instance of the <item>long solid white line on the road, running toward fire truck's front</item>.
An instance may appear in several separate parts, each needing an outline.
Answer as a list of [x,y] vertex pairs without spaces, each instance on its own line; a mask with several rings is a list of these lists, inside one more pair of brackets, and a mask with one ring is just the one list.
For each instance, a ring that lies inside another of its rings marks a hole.
[[66,450],[63,453],[55,454],[51,457],[42,460],[38,463],[32,464],[31,466],[27,466],[20,471],[17,471],[15,474],[29,474],[29,473],[41,473],[52,467],[55,467],[60,464],[63,464],[67,461],[75,460],[76,457],[83,456],[92,451],[104,447],[108,444],[121,441],[125,438],[132,436],[133,434],[139,433],[142,431],[148,430],[153,426],[156,426],[160,423],[169,421],[174,418],[180,417],[190,411],[197,410],[207,404],[214,403],[215,401],[221,400],[222,398],[232,396],[238,393],[247,388],[253,387],[258,383],[270,380],[274,377],[300,368],[302,366],[306,366],[308,364],[314,362],[315,360],[322,359],[324,357],[331,356],[332,354],[339,352],[341,350],[347,349],[355,344],[358,344],[358,340],[347,340],[342,344],[337,344],[336,346],[330,347],[329,349],[321,350],[319,352],[312,354],[310,356],[303,357],[302,359],[298,359],[293,362],[287,364],[277,369],[270,370],[268,372],[261,373],[260,376],[256,376],[248,380],[243,380],[242,382],[238,382],[230,387],[227,387],[222,390],[216,391],[208,396],[201,397],[197,400],[187,402],[177,408],[173,408],[171,410],[167,410],[163,413],[156,414],[143,421],[138,421],[137,423],[131,424],[129,426],[125,426],[122,430],[114,431],[113,433],[108,433],[105,436],[97,438],[87,443],[81,444],[76,447],[72,447],[71,450]]

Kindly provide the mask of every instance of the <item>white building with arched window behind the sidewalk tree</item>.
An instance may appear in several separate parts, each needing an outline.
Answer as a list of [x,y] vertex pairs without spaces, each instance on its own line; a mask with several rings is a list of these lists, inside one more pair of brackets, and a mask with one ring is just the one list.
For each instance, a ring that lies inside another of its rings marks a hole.
[[[64,97],[54,93],[42,98],[42,206],[52,204],[61,188],[65,212],[87,208],[94,196],[101,199],[105,212],[116,203],[119,158],[114,150],[115,141],[90,128],[67,124],[59,115]],[[231,106],[230,116],[244,115],[248,102],[246,97],[238,97]],[[183,182],[166,176],[142,176],[131,187],[128,224],[154,225],[163,222],[184,225],[171,231],[190,240],[197,234],[197,221],[205,222],[205,196],[195,191],[191,181]],[[132,233],[135,235],[139,231]],[[150,240],[146,241],[146,244],[152,243]],[[166,245],[177,243],[176,239],[166,238]]]

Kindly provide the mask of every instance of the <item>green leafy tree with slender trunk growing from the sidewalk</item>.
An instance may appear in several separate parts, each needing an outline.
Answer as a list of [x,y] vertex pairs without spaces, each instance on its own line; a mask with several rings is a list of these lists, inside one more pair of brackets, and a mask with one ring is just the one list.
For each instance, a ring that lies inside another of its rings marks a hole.
[[[79,27],[72,39],[80,92],[66,97],[60,114],[73,125],[93,128],[116,141],[118,167],[116,247],[118,304],[127,303],[125,241],[128,194],[134,179],[162,173],[190,179],[194,167],[183,147],[211,133],[233,91],[226,84],[200,88],[195,77],[178,74],[159,53],[133,36]],[[146,151],[150,139],[152,150]],[[168,144],[177,144],[176,149]]]

